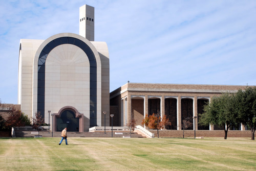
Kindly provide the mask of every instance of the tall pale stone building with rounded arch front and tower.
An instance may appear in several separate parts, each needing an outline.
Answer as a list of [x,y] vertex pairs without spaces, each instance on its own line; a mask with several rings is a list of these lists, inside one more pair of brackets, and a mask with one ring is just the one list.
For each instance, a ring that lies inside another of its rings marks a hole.
[[94,7],[79,10],[79,35],[20,40],[18,104],[28,116],[40,112],[53,122],[53,131],[88,131],[109,113],[108,46],[94,41]]

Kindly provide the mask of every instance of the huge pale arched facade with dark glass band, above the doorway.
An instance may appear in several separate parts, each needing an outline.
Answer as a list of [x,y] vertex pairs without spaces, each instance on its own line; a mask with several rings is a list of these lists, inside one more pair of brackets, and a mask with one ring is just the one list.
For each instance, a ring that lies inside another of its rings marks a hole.
[[90,113],[90,127],[97,126],[97,65],[100,68],[96,48],[82,36],[58,34],[45,40],[34,58],[35,111],[45,117],[45,110],[55,106],[81,105],[82,112]]

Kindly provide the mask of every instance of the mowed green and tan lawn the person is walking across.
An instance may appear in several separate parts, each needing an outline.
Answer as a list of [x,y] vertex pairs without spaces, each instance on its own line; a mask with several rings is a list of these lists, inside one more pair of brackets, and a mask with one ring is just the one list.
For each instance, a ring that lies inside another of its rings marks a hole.
[[0,138],[0,170],[256,170],[249,138]]

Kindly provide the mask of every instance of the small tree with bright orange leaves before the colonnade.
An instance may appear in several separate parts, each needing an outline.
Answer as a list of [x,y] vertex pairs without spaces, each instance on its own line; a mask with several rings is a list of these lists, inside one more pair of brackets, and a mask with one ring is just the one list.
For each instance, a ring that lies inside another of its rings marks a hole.
[[159,131],[160,129],[163,129],[165,126],[170,125],[170,121],[168,118],[166,118],[166,115],[163,115],[163,118],[161,118],[160,114],[155,114],[150,116],[145,116],[145,118],[142,120],[143,125],[148,127],[149,129],[157,130],[157,137],[159,138]]

